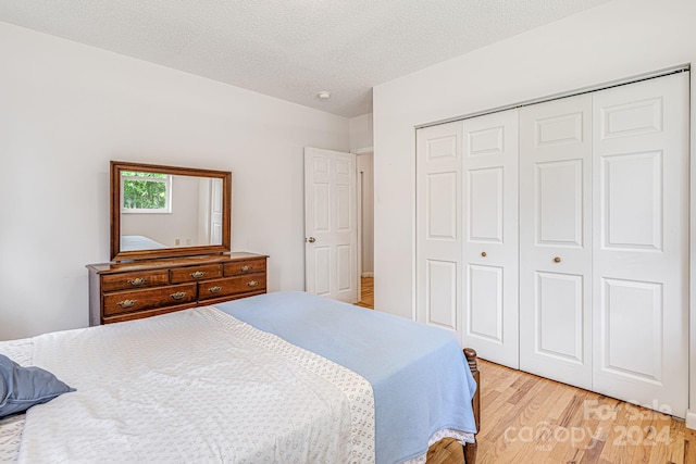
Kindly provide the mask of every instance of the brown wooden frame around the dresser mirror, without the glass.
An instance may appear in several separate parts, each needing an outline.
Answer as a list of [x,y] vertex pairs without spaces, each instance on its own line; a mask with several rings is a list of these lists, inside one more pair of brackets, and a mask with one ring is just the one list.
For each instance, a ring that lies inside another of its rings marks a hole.
[[[121,172],[137,171],[178,176],[209,177],[222,179],[222,243],[151,250],[121,251]],[[157,164],[111,161],[111,260],[132,261],[157,258],[175,258],[196,254],[215,254],[231,251],[232,238],[232,173],[226,171],[198,170]]]

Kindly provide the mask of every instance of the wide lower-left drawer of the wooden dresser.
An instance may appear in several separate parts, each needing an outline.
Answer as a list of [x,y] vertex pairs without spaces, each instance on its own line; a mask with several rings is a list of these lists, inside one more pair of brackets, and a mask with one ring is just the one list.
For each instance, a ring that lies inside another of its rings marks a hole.
[[104,293],[103,316],[114,316],[151,308],[195,303],[198,297],[197,290],[196,284],[185,284]]

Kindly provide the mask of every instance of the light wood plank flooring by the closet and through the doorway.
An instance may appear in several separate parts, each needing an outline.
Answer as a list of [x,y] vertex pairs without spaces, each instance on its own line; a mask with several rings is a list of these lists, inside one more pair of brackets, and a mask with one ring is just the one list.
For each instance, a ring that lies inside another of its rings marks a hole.
[[[374,309],[371,277],[359,304]],[[477,464],[696,464],[684,462],[683,421],[483,360],[478,369]],[[462,462],[453,440],[427,454],[427,464]]]

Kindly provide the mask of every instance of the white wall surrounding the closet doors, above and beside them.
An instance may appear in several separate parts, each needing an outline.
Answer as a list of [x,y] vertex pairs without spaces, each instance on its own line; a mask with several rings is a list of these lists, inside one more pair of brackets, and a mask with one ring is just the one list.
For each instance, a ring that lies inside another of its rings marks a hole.
[[[694,0],[616,0],[375,87],[375,308],[414,314],[415,126],[696,63],[695,18]],[[695,200],[692,193],[692,204]],[[693,211],[692,230],[695,221]],[[696,353],[693,309],[691,333]],[[696,356],[691,363],[691,411],[696,412]],[[696,416],[689,417],[696,426]]]

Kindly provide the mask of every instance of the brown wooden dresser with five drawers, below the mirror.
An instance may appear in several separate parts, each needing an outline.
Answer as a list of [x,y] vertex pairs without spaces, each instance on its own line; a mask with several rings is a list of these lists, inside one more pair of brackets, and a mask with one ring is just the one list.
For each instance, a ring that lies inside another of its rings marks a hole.
[[265,293],[266,258],[232,252],[89,264],[89,325]]

